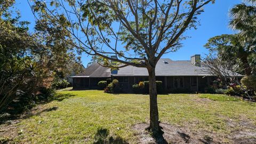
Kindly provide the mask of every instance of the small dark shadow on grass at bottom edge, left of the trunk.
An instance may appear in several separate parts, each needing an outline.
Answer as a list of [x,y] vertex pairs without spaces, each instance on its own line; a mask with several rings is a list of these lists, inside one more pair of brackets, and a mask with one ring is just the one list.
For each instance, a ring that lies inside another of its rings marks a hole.
[[94,144],[128,144],[123,138],[117,136],[113,137],[109,135],[109,130],[108,129],[98,129],[97,133],[95,134],[94,137]]

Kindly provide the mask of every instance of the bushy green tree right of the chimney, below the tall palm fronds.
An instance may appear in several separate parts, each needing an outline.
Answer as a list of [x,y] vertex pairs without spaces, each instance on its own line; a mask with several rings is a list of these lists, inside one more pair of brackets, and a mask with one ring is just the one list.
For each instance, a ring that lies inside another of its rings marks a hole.
[[254,64],[249,58],[255,54],[254,42],[243,41],[242,36],[238,34],[221,35],[210,38],[205,47],[212,53],[217,52],[222,61],[230,62],[230,58],[236,58],[233,59],[236,60],[236,65],[241,66],[236,72],[251,75]]

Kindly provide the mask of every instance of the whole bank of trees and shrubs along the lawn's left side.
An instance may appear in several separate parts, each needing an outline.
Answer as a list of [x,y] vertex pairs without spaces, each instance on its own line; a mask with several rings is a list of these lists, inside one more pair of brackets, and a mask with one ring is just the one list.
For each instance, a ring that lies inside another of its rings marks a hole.
[[29,22],[20,21],[14,3],[0,1],[0,111],[34,105],[38,90],[49,89],[55,75],[63,78],[74,70],[71,66],[80,66],[79,58],[62,39],[68,36],[65,29],[41,15],[51,26],[36,22],[35,31],[29,31]]

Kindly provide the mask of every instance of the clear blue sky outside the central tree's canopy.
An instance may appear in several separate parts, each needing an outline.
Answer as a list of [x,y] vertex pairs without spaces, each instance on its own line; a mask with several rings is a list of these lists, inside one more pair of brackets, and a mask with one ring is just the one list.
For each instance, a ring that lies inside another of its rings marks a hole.
[[[187,31],[186,35],[191,38],[183,41],[183,47],[173,53],[163,55],[162,58],[170,58],[172,60],[189,60],[194,54],[207,54],[204,44],[211,37],[221,34],[233,34],[234,31],[228,28],[228,11],[235,4],[241,3],[241,0],[216,0],[215,4],[208,4],[205,6],[205,12],[199,17],[201,26],[196,30]],[[30,30],[33,31],[35,19],[31,13],[27,0],[16,0],[15,7],[21,12],[21,20],[30,21]],[[83,54],[82,62],[86,67],[90,62],[91,56]]]

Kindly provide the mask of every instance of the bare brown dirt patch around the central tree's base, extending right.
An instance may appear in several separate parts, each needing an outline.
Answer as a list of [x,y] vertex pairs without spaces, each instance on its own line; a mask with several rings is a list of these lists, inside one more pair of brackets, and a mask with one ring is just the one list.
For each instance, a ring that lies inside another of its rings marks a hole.
[[[156,143],[150,133],[145,130],[147,126],[146,123],[133,126],[137,132],[138,143]],[[253,131],[236,131],[230,135],[220,136],[214,132],[190,131],[188,127],[177,127],[164,123],[161,123],[160,126],[163,127],[163,137],[168,143],[255,143],[256,141],[256,133]]]

